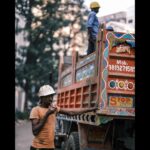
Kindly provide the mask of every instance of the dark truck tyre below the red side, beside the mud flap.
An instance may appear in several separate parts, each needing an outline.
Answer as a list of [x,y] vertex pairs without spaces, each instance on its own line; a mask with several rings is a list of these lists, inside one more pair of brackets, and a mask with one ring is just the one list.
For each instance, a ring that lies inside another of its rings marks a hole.
[[67,141],[66,150],[80,150],[78,132],[72,132]]

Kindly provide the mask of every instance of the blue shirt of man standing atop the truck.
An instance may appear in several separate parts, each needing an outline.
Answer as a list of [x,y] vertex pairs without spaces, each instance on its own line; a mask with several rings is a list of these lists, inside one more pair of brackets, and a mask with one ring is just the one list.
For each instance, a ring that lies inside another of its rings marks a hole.
[[98,18],[96,16],[96,12],[91,11],[89,16],[88,16],[88,20],[87,20],[86,26],[87,26],[87,28],[88,27],[92,28],[92,36],[94,38],[97,37],[99,25],[100,25],[100,23],[98,22]]

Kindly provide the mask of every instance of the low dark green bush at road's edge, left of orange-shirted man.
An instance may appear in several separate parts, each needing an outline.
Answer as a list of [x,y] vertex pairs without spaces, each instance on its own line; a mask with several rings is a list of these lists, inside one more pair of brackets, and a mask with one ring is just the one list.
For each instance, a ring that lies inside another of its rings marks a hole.
[[16,110],[16,113],[15,113],[15,120],[26,120],[26,119],[29,119],[29,112],[21,112],[21,111],[18,111]]

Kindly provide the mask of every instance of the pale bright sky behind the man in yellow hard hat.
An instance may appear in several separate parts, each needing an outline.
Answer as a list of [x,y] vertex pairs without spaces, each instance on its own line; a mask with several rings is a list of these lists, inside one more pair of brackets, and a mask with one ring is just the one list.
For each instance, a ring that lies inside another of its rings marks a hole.
[[89,9],[90,3],[93,1],[97,1],[101,6],[97,14],[98,17],[126,11],[130,6],[135,6],[135,0],[85,0],[84,5]]

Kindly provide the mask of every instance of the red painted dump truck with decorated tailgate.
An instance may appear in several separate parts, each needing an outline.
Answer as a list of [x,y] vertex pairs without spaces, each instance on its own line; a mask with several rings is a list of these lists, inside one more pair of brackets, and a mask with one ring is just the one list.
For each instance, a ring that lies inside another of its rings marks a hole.
[[62,150],[134,150],[135,35],[103,24],[96,50],[72,51],[59,64],[57,105],[68,110],[98,107],[81,115],[57,115],[55,145]]

